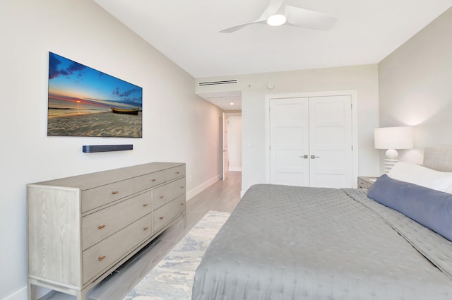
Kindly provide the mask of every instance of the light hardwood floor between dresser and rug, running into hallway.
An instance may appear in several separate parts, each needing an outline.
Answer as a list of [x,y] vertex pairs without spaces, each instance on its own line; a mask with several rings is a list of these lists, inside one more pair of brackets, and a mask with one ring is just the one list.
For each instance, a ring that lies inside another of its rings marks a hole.
[[[217,181],[186,203],[186,228],[176,222],[140,253],[88,293],[89,300],[121,300],[179,242],[209,210],[232,212],[240,200],[242,172],[230,172],[225,181]],[[52,300],[66,300],[52,297]]]

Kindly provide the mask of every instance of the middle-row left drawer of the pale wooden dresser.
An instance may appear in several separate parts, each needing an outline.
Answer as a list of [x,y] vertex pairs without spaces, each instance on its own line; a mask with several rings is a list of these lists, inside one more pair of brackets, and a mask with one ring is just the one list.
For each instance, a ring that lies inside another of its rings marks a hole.
[[148,191],[82,217],[83,250],[148,215],[152,211],[151,200]]

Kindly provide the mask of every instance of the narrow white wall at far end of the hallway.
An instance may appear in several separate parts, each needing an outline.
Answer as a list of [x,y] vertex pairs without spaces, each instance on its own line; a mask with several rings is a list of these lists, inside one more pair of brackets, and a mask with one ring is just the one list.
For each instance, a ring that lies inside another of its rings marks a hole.
[[227,131],[229,141],[229,169],[242,171],[242,113],[227,113],[229,115],[229,128]]

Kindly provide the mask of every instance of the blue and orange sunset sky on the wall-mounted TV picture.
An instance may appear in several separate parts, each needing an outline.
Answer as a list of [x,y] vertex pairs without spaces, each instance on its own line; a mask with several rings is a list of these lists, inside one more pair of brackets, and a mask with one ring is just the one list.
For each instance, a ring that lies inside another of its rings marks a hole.
[[49,52],[49,109],[129,109],[142,102],[140,87]]

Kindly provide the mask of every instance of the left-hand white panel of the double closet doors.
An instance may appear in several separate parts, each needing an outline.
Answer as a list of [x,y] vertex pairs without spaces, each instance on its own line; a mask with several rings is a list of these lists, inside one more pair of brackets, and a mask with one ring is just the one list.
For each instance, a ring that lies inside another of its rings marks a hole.
[[270,183],[309,186],[309,99],[270,100]]

